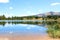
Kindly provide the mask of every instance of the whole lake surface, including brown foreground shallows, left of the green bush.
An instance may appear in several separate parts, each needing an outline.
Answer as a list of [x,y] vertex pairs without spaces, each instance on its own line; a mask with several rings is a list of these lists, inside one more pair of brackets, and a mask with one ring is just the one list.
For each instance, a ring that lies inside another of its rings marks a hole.
[[[39,37],[45,36],[46,25],[35,22],[0,22],[1,40],[39,40]],[[10,38],[10,39],[9,39]],[[15,39],[16,38],[16,39]],[[37,39],[36,39],[37,38]]]

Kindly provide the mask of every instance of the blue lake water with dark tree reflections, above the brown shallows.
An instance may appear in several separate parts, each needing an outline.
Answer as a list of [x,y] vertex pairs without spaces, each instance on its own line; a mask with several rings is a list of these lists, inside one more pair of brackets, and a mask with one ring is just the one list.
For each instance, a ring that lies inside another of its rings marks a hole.
[[45,35],[47,28],[43,22],[0,22],[0,35]]

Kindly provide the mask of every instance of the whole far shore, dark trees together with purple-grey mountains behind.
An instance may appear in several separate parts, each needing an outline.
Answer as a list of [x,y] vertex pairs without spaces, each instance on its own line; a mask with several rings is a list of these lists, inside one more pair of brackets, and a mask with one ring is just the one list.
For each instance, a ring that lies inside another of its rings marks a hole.
[[60,20],[60,12],[46,12],[37,15],[23,16],[23,17],[12,16],[6,18],[5,15],[0,16],[0,20],[51,20],[51,19]]

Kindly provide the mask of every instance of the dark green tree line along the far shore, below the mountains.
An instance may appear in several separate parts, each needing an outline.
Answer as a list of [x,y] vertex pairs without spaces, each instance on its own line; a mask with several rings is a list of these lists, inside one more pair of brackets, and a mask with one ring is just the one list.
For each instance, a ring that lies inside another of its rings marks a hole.
[[17,16],[12,16],[12,17],[5,17],[5,15],[2,15],[0,16],[0,20],[32,20],[32,19],[39,19],[39,18],[42,18],[42,20],[46,20],[46,19],[58,19],[60,18],[60,15],[48,15],[48,16],[42,16],[42,17],[39,17],[39,16],[23,16],[23,17],[17,17]]

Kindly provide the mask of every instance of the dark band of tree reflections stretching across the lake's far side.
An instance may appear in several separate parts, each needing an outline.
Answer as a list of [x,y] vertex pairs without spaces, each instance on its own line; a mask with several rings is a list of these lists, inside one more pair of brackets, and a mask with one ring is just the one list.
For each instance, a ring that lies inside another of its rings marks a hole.
[[12,24],[12,25],[17,25],[17,24],[31,24],[31,25],[55,25],[57,23],[57,21],[40,21],[40,22],[33,22],[33,21],[29,21],[29,22],[24,22],[24,21],[0,21],[0,25],[5,26],[5,24]]

